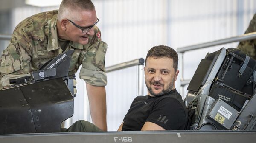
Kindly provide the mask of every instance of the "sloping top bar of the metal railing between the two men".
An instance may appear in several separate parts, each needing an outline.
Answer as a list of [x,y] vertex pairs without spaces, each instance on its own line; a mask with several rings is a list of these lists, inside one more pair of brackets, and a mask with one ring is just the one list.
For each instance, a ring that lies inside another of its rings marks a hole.
[[136,65],[144,65],[144,59],[143,58],[134,59],[132,61],[123,62],[123,63],[120,63],[120,64],[115,64],[115,65],[106,67],[106,73],[114,71],[114,70],[120,70],[120,69],[124,69],[124,68],[127,68],[127,67],[136,66]]

